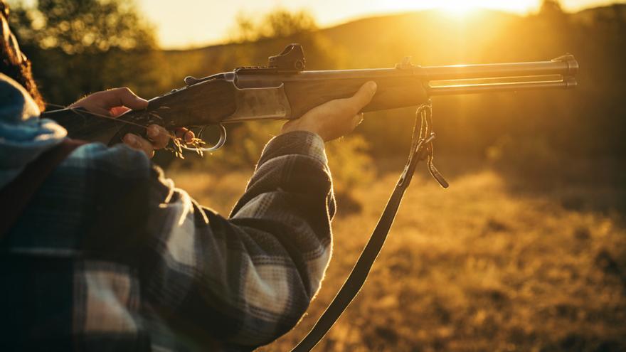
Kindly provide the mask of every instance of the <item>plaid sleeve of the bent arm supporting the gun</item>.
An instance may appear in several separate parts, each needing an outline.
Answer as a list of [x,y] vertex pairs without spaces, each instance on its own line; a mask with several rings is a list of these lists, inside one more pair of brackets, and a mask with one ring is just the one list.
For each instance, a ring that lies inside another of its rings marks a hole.
[[331,256],[335,206],[322,139],[309,132],[272,139],[228,218],[159,171],[155,179],[144,289],[151,309],[237,346],[270,343],[292,329]]

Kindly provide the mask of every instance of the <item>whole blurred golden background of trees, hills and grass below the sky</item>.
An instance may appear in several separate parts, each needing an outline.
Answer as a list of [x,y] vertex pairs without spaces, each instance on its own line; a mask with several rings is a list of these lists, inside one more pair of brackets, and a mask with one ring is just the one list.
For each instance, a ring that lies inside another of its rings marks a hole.
[[[309,69],[573,53],[575,90],[433,98],[437,166],[451,186],[418,169],[371,277],[318,351],[626,350],[626,4],[430,9],[336,26],[277,8],[233,16],[222,43],[174,50],[159,47],[158,23],[133,1],[9,2],[43,95],[59,105],[118,86],[154,97],[187,75],[264,65],[293,42]],[[366,114],[354,134],[328,144],[334,257],[307,316],[263,351],[294,346],[334,297],[403,167],[413,113]],[[211,155],[155,159],[223,214],[280,122],[228,128],[226,146]]]

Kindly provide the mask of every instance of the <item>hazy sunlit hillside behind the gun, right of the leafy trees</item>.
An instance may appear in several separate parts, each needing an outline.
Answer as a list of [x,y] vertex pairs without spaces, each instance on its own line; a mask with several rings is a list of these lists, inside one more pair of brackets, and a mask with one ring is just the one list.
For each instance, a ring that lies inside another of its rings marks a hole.
[[[166,51],[163,74],[174,87],[186,75],[264,65],[267,56],[296,41],[304,45],[309,69],[393,67],[405,56],[420,65],[446,65],[550,60],[573,53],[581,68],[574,91],[434,99],[443,151],[479,156],[508,143],[514,154],[514,149],[542,154],[545,165],[539,169],[549,169],[560,154],[618,156],[626,151],[620,133],[626,130],[626,107],[617,104],[626,80],[625,9],[612,5],[528,16],[477,11],[466,18],[418,11],[362,18],[290,38]],[[360,132],[371,145],[386,146],[374,147],[378,153],[403,153],[411,114],[410,109],[369,114]]]

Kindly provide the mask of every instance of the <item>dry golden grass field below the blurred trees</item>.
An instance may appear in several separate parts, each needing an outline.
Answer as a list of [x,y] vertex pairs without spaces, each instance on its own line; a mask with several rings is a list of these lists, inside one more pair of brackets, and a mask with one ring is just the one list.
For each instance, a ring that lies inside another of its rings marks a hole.
[[[354,189],[361,210],[339,203],[322,290],[299,326],[262,351],[289,351],[317,320],[401,163]],[[317,351],[626,351],[621,185],[557,181],[541,190],[479,162],[457,168],[442,167],[451,183],[442,190],[422,165],[364,289]],[[170,176],[228,213],[249,174]]]

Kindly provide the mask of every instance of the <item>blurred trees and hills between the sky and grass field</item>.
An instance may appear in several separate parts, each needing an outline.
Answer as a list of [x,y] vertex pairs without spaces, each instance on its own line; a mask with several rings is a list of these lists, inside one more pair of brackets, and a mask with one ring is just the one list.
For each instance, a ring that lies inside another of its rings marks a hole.
[[[80,95],[127,85],[152,97],[182,85],[186,75],[206,76],[243,65],[263,65],[287,43],[299,42],[308,69],[392,67],[405,56],[420,65],[549,60],[573,53],[579,86],[536,91],[435,97],[437,149],[445,154],[488,156],[541,172],[558,170],[571,158],[608,156],[626,150],[626,5],[566,13],[546,0],[540,11],[517,16],[477,11],[465,18],[420,11],[364,18],[319,29],[306,12],[277,10],[265,16],[240,14],[230,43],[191,50],[159,50],[150,23],[132,1],[40,0],[14,2],[11,25],[33,67],[44,97],[68,104]],[[368,174],[369,159],[404,156],[413,109],[366,115],[348,161],[364,156],[356,175]],[[231,138],[211,159],[253,164],[276,124],[229,127]],[[341,154],[339,152],[332,154]],[[341,171],[337,171],[341,174]],[[348,182],[349,183],[349,182]]]

